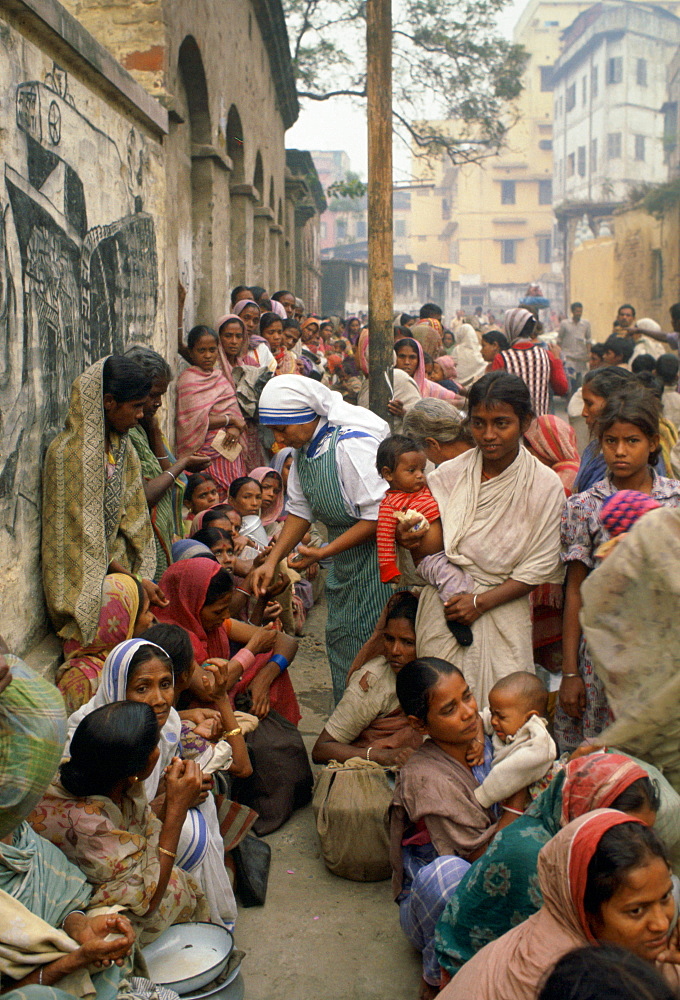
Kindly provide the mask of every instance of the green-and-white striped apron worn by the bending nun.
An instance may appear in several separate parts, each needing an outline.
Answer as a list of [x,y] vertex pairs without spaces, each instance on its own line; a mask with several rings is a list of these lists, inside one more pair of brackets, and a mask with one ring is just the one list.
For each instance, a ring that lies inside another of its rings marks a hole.
[[[328,427],[327,432],[331,434],[331,441],[326,451],[319,455],[315,450],[310,457],[306,449],[301,449],[297,456],[297,469],[300,486],[314,520],[326,525],[328,539],[332,542],[359,520],[347,513],[342,498],[335,461],[338,439],[371,435],[341,427]],[[373,632],[391,594],[389,584],[380,582],[375,539],[333,557],[326,579],[326,655],[336,705],[345,692],[350,664]]]

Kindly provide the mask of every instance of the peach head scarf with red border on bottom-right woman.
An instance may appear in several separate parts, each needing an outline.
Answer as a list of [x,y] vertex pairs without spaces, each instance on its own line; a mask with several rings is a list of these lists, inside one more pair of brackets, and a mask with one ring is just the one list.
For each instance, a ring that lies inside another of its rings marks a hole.
[[604,834],[630,822],[637,821],[598,809],[560,830],[538,858],[541,909],[482,948],[443,990],[442,1000],[535,1000],[547,969],[568,951],[596,943],[583,908],[588,864]]

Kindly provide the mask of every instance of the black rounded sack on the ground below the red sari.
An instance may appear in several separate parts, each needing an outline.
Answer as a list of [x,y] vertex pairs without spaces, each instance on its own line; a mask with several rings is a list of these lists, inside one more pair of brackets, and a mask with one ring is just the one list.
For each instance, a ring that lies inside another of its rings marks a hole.
[[273,709],[248,733],[246,746],[253,773],[234,780],[234,798],[259,813],[253,833],[264,837],[310,801],[312,769],[296,727]]

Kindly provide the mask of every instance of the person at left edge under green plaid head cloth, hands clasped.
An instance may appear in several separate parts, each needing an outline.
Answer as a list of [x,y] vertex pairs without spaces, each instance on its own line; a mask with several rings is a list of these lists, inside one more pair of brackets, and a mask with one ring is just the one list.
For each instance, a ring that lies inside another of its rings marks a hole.
[[[0,992],[16,983],[5,996],[152,1000],[153,983],[129,978],[130,921],[111,911],[88,916],[85,876],[25,822],[65,738],[57,689],[18,657],[0,658]],[[95,965],[101,971],[88,972]]]

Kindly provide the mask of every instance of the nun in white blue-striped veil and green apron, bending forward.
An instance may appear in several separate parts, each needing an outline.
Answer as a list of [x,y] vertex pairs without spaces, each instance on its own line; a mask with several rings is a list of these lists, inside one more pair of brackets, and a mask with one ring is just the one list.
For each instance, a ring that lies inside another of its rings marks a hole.
[[349,664],[373,631],[391,594],[380,582],[375,531],[386,484],[378,475],[378,445],[389,434],[384,420],[350,406],[337,392],[301,375],[281,375],[264,387],[260,423],[276,443],[298,449],[288,476],[288,516],[253,589],[264,593],[277,563],[302,540],[313,521],[328,528],[323,548],[300,546],[294,568],[333,557],[326,581],[326,650],[336,703]]

